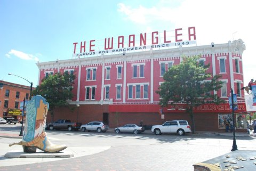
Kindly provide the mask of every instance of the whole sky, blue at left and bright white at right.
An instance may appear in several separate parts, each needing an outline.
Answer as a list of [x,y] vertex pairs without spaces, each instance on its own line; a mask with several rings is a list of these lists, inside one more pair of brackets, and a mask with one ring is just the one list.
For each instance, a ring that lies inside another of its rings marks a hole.
[[72,59],[74,42],[196,27],[197,45],[241,38],[245,85],[255,76],[256,1],[0,0],[0,80],[38,84],[36,62]]

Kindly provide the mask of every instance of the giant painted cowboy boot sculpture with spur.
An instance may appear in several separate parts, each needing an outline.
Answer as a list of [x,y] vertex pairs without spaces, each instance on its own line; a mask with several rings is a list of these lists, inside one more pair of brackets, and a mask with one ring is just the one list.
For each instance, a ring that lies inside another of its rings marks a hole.
[[34,96],[27,103],[26,123],[22,141],[13,143],[9,146],[18,144],[23,146],[23,151],[28,153],[36,152],[40,149],[46,153],[55,153],[67,148],[67,145],[52,144],[46,136],[45,121],[49,103],[42,96]]

